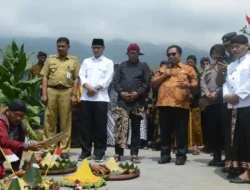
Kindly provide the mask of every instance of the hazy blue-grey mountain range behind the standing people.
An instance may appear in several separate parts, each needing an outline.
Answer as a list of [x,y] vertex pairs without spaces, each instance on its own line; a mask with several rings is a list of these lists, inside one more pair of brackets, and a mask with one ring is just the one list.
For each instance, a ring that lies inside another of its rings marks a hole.
[[[56,54],[56,39],[52,38],[15,38],[16,42],[20,45],[25,43],[26,52],[34,52],[32,59],[36,62],[36,54],[40,50],[48,52],[48,54]],[[5,49],[8,43],[11,43],[11,38],[0,37],[0,48]],[[105,42],[105,56],[112,59],[114,62],[122,62],[127,60],[126,49],[130,42],[122,39],[113,39]],[[167,59],[166,49],[170,44],[155,45],[147,42],[139,42],[141,51],[145,54],[140,57],[141,61],[147,62],[152,67],[158,67],[161,60]],[[181,45],[181,44],[180,44]],[[70,54],[78,57],[80,63],[87,57],[92,56],[91,44],[85,44],[79,41],[70,42]],[[185,47],[183,49],[183,61],[190,54],[197,56],[198,60],[201,57],[208,56],[208,52],[199,50],[195,47]]]

